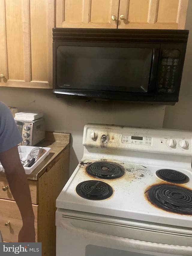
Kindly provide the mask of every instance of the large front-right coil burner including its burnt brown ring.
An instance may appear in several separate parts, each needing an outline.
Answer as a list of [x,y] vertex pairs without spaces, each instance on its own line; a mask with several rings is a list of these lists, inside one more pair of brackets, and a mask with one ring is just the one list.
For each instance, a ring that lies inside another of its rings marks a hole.
[[144,192],[146,200],[158,209],[192,215],[192,190],[169,182],[150,185]]

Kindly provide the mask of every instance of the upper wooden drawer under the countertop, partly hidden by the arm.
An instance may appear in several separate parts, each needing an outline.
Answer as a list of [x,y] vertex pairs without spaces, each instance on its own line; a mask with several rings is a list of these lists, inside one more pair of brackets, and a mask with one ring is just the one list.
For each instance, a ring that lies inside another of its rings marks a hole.
[[[29,189],[30,189],[30,192],[31,192],[32,203],[33,204],[38,204],[38,200],[37,200],[37,181],[28,180],[28,182],[29,182]],[[6,186],[8,188],[6,188]],[[14,198],[11,194],[11,191],[9,189],[9,185],[8,185],[6,177],[0,177],[0,198],[7,199],[7,200],[14,200]]]

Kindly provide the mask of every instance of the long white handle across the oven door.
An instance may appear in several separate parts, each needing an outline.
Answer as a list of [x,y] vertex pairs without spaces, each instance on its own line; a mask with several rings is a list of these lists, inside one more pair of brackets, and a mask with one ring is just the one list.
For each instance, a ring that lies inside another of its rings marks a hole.
[[192,247],[191,246],[180,246],[180,245],[168,245],[161,244],[155,242],[146,242],[140,240],[134,240],[129,238],[123,238],[119,236],[112,236],[103,233],[98,233],[86,229],[82,229],[79,227],[74,227],[70,221],[60,220],[61,226],[64,229],[74,233],[75,235],[84,237],[86,239],[93,239],[93,241],[105,241],[105,243],[110,243],[114,245],[118,245],[120,249],[124,248],[132,248],[140,251],[150,251],[157,252],[162,254],[174,254],[174,255],[182,255],[182,256],[191,256],[192,255]]

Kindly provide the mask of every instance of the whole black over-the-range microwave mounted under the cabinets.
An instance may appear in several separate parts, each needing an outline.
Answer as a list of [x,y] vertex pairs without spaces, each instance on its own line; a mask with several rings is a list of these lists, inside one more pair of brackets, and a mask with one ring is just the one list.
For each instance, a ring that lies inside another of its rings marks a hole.
[[174,105],[188,30],[53,28],[57,97]]

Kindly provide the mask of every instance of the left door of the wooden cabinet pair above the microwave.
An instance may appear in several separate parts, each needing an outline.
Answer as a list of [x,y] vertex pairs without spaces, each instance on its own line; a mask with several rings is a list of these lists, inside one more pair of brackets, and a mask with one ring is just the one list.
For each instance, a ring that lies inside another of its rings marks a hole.
[[118,9],[119,0],[56,0],[56,27],[115,29]]

